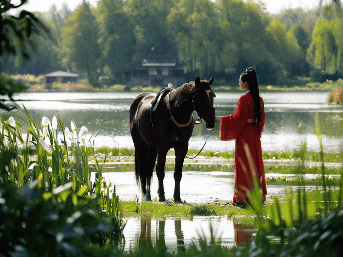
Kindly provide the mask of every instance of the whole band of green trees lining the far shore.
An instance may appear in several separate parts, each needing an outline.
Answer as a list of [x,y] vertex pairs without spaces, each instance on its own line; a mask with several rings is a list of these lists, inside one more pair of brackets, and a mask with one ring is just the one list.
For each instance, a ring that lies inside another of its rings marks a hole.
[[32,56],[29,61],[11,54],[21,41],[3,44],[8,49],[1,57],[3,71],[73,70],[95,85],[100,76],[123,81],[127,65],[154,53],[177,54],[186,77],[215,74],[230,81],[248,66],[264,84],[314,70],[343,76],[340,1],[270,15],[263,4],[243,0],[99,0],[97,7],[83,0],[74,11],[52,6],[36,16],[48,24],[55,44],[31,37],[30,46],[39,50],[21,49],[22,56]]

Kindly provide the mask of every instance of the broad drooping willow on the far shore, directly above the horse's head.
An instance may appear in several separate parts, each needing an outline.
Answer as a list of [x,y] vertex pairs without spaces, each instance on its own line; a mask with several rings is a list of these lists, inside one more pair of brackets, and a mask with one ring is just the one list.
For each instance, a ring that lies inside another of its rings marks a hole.
[[200,77],[235,70],[238,48],[230,39],[230,24],[221,20],[209,0],[182,0],[167,18],[186,71]]

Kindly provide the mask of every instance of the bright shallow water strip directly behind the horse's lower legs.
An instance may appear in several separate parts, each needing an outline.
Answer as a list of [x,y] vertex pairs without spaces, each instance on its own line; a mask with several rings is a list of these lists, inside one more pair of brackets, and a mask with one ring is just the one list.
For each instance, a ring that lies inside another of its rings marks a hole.
[[[165,172],[164,187],[166,199],[173,198],[174,178],[173,172]],[[141,200],[141,190],[136,184],[134,172],[105,172],[102,173],[106,184],[110,182],[116,186],[116,194],[123,201],[135,200],[136,196]],[[180,182],[181,200],[188,203],[213,203],[215,200],[231,201],[234,192],[234,174],[221,171],[182,171]],[[266,174],[266,178],[278,177],[279,174]],[[94,181],[95,173],[91,175]],[[267,185],[267,198],[277,196],[283,198],[295,192],[298,186],[272,186]],[[306,192],[319,190],[318,186],[305,186]],[[158,199],[158,179],[156,172],[153,173],[151,181],[151,199]]]

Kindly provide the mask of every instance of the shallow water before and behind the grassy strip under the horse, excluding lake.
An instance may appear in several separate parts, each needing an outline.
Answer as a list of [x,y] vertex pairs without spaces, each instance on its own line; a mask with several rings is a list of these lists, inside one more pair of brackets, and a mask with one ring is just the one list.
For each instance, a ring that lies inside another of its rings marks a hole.
[[[138,196],[142,201],[140,188],[135,182],[134,172],[106,172],[102,173],[107,185],[116,185],[116,194],[121,200],[134,200]],[[213,203],[215,200],[230,201],[233,197],[234,174],[230,172],[201,172],[183,171],[181,180],[181,199],[187,203]],[[266,177],[277,177],[279,174],[267,174]],[[313,176],[310,175],[309,176]],[[92,173],[91,180],[94,180]],[[158,180],[153,173],[151,184],[151,198],[158,199]],[[166,172],[164,179],[166,198],[172,199],[174,179],[173,172]],[[303,187],[301,187],[303,188]],[[280,200],[286,195],[296,192],[297,186],[267,186],[267,198],[277,196]],[[306,192],[321,190],[318,186],[305,186]],[[335,190],[337,188],[331,188]],[[282,200],[281,200],[282,201]],[[156,203],[163,204],[163,203]],[[237,207],[238,208],[238,207]],[[182,214],[182,213],[181,213]],[[226,216],[194,216],[192,218],[178,216],[151,216],[137,214],[137,217],[124,217],[127,221],[123,231],[125,251],[139,244],[147,243],[155,249],[167,247],[168,252],[184,251],[200,237],[210,242],[212,235],[215,243],[223,246],[234,246],[248,243],[257,232],[254,225],[247,223],[244,217],[227,219]],[[213,234],[211,234],[211,227]]]

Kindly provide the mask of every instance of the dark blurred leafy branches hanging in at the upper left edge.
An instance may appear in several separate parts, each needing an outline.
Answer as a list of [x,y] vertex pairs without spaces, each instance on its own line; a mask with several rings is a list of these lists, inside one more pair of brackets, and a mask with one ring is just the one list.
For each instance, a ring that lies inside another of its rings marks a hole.
[[[11,0],[0,0],[0,72],[3,55],[21,55],[29,59],[29,47],[35,47],[31,36],[35,33],[42,34],[42,30],[49,33],[48,28],[37,19],[37,17],[23,10],[19,17],[6,16],[5,13],[13,8],[22,6],[26,0],[21,0],[18,5],[11,3]],[[5,74],[0,74],[0,95],[12,99],[14,93],[21,92],[23,86],[15,83]],[[10,110],[13,107],[4,104],[6,99],[0,100],[0,108]]]

